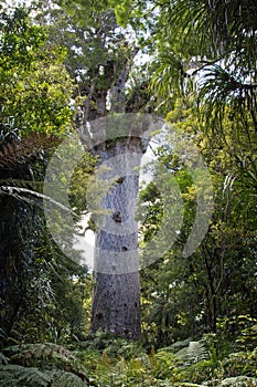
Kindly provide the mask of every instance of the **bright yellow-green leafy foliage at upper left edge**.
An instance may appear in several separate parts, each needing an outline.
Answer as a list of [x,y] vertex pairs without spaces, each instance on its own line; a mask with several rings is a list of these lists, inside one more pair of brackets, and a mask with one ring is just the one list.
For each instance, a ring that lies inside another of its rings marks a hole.
[[67,133],[73,85],[64,51],[46,46],[44,30],[30,24],[24,9],[2,12],[0,28],[2,121],[13,122],[17,136]]

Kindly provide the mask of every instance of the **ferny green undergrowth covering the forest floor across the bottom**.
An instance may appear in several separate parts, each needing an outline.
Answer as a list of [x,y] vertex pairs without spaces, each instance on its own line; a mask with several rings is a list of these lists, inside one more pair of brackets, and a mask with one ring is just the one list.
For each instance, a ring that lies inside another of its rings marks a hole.
[[109,335],[68,347],[36,343],[0,353],[4,387],[257,386],[257,348],[218,356],[215,335],[146,353]]

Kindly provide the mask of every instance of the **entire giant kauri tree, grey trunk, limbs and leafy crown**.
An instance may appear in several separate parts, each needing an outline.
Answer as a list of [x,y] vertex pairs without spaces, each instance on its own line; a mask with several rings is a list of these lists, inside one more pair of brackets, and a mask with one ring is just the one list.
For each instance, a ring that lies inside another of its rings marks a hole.
[[[135,216],[138,194],[135,170],[148,143],[147,138],[141,138],[146,132],[143,121],[133,114],[125,115],[138,111],[137,106],[127,104],[126,97],[126,84],[138,49],[127,39],[128,31],[117,24],[115,12],[107,2],[60,1],[56,6],[46,12],[46,20],[51,21],[49,33],[53,44],[62,44],[68,52],[66,67],[76,80],[76,128],[82,143],[96,157],[98,170],[106,166],[108,169],[114,158],[121,166],[116,181],[111,180],[114,175],[111,178],[107,172],[103,175],[103,180],[110,179],[113,185],[99,203],[106,211],[106,226],[99,227],[95,220],[90,331],[103,330],[138,338],[138,231],[127,229],[120,234],[124,224]],[[44,17],[41,21],[44,22]],[[90,208],[90,203],[87,205]],[[122,261],[121,257],[127,259]]]

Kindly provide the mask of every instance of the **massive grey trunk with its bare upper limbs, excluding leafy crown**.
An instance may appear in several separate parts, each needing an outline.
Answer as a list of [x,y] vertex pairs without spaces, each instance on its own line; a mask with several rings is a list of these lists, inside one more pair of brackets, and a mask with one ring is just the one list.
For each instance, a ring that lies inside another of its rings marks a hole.
[[[90,331],[95,333],[101,328],[129,338],[140,336],[138,229],[132,219],[138,195],[137,167],[147,142],[140,138],[146,130],[142,118],[121,113],[126,108],[125,85],[137,52],[138,49],[128,49],[126,60],[121,57],[121,62],[110,61],[100,66],[106,81],[104,88],[98,90],[99,83],[93,79],[83,106],[83,119],[79,119],[81,138],[86,148],[99,157],[99,170],[105,165],[108,167],[101,178],[108,182],[117,175],[115,186],[98,206],[99,212],[109,212],[101,216],[104,226],[96,221]],[[106,112],[107,95],[110,118]],[[117,119],[111,118],[114,113],[120,114]],[[98,194],[96,188],[95,196]],[[94,199],[89,200],[89,206]],[[94,209],[92,212],[94,216]],[[97,210],[95,217],[96,213]]]

